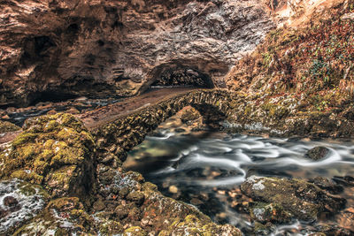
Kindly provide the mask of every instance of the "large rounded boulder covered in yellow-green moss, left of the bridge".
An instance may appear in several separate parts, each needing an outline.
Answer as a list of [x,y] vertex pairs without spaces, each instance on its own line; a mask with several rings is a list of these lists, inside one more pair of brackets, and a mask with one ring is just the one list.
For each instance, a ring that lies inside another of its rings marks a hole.
[[95,151],[92,135],[73,115],[28,119],[11,151],[0,154],[0,177],[40,184],[53,197],[84,197],[94,182]]

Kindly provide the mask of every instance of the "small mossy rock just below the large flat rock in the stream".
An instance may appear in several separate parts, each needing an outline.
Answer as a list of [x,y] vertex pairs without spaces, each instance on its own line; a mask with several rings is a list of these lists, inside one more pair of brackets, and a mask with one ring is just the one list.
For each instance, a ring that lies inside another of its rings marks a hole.
[[278,203],[250,202],[250,217],[259,223],[289,223],[291,214]]

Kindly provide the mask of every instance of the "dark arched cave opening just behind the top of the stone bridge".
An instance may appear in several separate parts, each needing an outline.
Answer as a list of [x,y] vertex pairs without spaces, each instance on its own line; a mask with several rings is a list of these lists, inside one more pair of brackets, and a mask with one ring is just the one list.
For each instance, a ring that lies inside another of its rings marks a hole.
[[151,84],[156,87],[196,87],[214,88],[212,78],[195,68],[189,66],[166,67],[155,76],[156,80]]

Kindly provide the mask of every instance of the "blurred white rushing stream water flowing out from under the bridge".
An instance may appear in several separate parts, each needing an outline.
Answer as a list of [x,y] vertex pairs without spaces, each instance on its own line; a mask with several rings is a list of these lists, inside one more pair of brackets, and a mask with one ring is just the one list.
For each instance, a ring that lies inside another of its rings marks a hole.
[[[312,161],[304,156],[317,146],[330,149],[326,158]],[[194,204],[214,221],[240,227],[247,235],[252,223],[235,206],[235,200],[243,201],[239,186],[246,176],[352,176],[354,143],[190,132],[170,120],[129,153],[125,167],[142,172],[163,194]],[[349,187],[341,194],[348,201],[347,208],[354,207],[353,191]],[[273,234],[306,235],[321,223],[354,227],[352,218],[338,214],[314,225],[298,221],[277,225]]]

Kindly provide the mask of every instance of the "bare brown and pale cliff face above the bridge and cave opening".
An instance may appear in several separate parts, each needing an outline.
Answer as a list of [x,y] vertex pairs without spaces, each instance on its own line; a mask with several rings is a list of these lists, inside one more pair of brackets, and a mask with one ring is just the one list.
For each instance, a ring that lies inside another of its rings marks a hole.
[[0,9],[1,105],[135,95],[176,70],[223,86],[273,27],[254,0],[9,0]]

